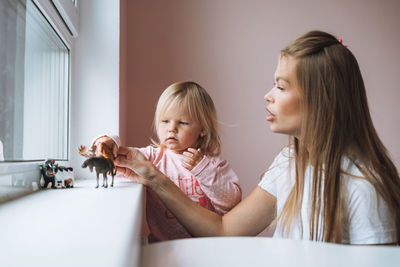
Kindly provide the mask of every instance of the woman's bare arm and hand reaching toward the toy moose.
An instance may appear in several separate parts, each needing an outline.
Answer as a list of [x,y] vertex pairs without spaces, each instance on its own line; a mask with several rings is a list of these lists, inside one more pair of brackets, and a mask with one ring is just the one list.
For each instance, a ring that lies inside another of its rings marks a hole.
[[275,197],[259,187],[220,216],[189,199],[137,149],[121,147],[116,165],[125,175],[150,187],[194,236],[257,235],[275,218]]

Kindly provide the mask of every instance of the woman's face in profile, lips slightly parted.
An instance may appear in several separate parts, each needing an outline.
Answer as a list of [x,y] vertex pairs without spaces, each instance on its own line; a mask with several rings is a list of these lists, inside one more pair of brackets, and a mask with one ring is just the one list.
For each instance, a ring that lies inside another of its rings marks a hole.
[[297,77],[297,59],[281,57],[274,75],[274,88],[264,99],[268,102],[267,121],[271,122],[271,131],[295,137],[300,136],[302,122],[301,100]]

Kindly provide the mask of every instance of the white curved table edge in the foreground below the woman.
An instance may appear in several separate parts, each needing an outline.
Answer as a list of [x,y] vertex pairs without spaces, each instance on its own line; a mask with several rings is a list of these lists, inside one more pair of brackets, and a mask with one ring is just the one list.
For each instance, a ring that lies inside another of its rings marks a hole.
[[213,237],[144,246],[142,267],[400,266],[400,248],[267,237]]

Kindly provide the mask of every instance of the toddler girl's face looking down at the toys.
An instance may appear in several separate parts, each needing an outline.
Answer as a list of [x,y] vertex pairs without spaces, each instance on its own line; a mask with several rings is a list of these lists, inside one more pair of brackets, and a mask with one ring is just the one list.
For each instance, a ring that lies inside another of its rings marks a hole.
[[189,118],[181,105],[169,107],[160,116],[157,135],[166,148],[182,154],[189,147],[197,148],[200,135],[204,134],[201,125]]

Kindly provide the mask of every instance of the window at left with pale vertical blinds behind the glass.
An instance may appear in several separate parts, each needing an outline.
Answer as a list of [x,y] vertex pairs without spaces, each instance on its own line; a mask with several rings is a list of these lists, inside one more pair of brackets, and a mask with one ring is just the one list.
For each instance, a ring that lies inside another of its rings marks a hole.
[[38,2],[0,1],[0,200],[37,189],[38,163],[68,160],[70,50]]

